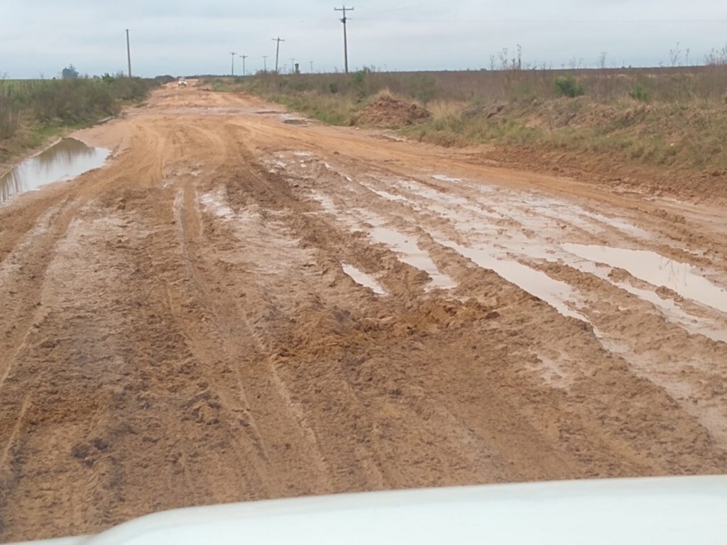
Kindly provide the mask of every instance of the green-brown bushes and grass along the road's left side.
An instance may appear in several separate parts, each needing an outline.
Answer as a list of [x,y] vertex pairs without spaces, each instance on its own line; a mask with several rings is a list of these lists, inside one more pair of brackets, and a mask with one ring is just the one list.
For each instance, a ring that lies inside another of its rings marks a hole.
[[80,78],[73,66],[64,69],[64,76],[52,80],[0,79],[0,163],[67,129],[116,116],[122,105],[142,101],[151,88],[173,79],[108,74]]

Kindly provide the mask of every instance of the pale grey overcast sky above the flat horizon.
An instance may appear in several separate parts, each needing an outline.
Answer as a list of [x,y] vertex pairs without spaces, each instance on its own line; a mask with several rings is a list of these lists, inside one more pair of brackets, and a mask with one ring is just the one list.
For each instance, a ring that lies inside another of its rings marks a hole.
[[[491,55],[523,49],[523,64],[553,68],[699,63],[727,43],[724,0],[363,0],[348,25],[351,67],[388,70],[490,68]],[[342,70],[342,25],[326,0],[0,0],[0,76],[56,76],[126,68],[132,39],[136,75],[230,73],[230,52],[263,55],[281,68]],[[496,61],[499,65],[499,60]],[[241,71],[237,60],[237,72]]]

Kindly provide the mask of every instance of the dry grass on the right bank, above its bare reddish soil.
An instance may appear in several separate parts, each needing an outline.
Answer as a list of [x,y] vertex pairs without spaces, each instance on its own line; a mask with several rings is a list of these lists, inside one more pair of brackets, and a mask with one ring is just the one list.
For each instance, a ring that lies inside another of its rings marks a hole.
[[[623,100],[603,105],[582,99],[550,104],[507,105],[495,116],[483,109],[434,109],[406,136],[443,146],[473,144],[538,146],[611,154],[654,166],[727,169],[727,108],[709,102],[640,105]],[[564,116],[564,112],[571,115]]]

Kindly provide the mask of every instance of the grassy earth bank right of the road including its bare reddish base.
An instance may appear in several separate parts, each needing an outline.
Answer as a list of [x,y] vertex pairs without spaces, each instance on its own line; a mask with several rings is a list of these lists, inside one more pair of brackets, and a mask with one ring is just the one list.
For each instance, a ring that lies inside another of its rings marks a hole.
[[[481,161],[619,190],[727,202],[721,105],[603,104],[587,97],[445,108],[410,137],[468,149]],[[476,160],[476,159],[475,159]]]

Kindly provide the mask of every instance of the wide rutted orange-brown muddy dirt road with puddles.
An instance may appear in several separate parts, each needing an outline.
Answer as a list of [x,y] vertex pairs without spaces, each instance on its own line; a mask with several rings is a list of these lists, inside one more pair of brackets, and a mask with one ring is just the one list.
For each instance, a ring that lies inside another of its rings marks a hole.
[[167,88],[0,207],[0,541],[727,471],[727,224]]

